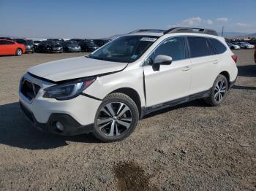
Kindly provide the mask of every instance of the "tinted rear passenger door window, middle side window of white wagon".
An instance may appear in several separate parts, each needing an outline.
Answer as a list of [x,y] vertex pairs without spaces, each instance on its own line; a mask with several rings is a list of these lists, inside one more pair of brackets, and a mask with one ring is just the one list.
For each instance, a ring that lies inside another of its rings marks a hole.
[[188,36],[191,58],[209,55],[207,39],[197,36]]

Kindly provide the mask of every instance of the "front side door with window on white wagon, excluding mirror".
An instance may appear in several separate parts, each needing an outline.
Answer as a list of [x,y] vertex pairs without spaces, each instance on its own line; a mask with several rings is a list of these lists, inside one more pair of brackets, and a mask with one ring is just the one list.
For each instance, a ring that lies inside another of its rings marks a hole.
[[[170,65],[161,65],[154,71],[152,63],[157,55],[173,58]],[[146,106],[155,106],[189,95],[192,66],[187,56],[184,37],[165,39],[143,65],[146,88]]]

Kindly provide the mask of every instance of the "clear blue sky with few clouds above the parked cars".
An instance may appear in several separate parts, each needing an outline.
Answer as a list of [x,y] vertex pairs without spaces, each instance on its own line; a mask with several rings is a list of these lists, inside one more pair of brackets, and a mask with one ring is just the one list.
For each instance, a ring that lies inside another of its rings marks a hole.
[[0,0],[0,35],[99,38],[173,26],[256,32],[255,0]]

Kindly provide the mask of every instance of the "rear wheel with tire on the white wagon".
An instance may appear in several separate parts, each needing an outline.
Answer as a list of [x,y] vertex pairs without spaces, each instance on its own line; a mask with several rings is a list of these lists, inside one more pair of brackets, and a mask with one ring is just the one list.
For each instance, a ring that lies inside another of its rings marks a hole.
[[211,106],[219,106],[225,100],[227,90],[227,78],[219,74],[214,81],[213,87],[211,87],[210,96],[205,99],[206,103]]

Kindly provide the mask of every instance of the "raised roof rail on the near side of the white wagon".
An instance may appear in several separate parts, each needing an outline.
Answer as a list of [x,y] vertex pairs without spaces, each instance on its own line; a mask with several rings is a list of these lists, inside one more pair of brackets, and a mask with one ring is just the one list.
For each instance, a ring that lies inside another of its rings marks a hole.
[[170,33],[200,33],[218,36],[217,31],[207,28],[175,27],[164,31],[164,34]]

